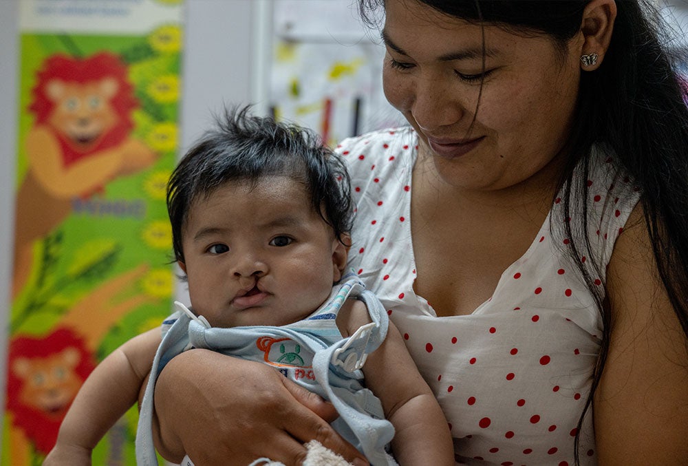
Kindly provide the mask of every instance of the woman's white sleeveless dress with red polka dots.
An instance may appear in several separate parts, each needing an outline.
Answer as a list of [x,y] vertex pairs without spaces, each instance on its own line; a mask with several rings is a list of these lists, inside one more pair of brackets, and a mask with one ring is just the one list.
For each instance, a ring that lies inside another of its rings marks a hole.
[[[413,293],[410,226],[411,128],[344,140],[356,200],[349,265],[383,302],[436,394],[454,438],[458,464],[573,465],[574,436],[599,352],[601,319],[569,242],[557,200],[526,253],[504,271],[495,292],[471,315],[436,317]],[[596,157],[588,176],[588,237],[599,264],[639,193]],[[579,210],[576,210],[579,211]],[[577,244],[580,244],[578,241]],[[587,254],[587,257],[586,257]],[[589,252],[578,258],[590,264]],[[604,271],[589,269],[602,287]],[[602,274],[602,275],[601,275]],[[603,291],[603,290],[601,290]],[[596,464],[592,418],[580,434],[581,464]]]

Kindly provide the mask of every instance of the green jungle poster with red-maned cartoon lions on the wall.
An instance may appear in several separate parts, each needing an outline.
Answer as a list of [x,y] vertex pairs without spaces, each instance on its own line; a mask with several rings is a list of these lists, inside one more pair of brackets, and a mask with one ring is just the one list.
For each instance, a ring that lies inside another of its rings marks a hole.
[[[105,355],[170,313],[182,0],[22,0],[1,465],[39,465]],[[135,464],[130,410],[94,450]]]

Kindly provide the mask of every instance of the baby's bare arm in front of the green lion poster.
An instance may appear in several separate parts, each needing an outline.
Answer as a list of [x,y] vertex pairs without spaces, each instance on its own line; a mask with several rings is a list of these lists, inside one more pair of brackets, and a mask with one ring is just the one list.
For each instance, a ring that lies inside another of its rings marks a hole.
[[100,438],[136,403],[160,344],[160,328],[124,343],[89,375],[60,426],[45,466],[90,465]]

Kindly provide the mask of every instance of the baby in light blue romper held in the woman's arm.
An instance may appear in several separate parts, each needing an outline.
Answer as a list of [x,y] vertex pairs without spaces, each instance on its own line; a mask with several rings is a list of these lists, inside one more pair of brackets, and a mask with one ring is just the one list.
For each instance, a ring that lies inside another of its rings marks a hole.
[[45,464],[90,464],[92,448],[151,372],[136,454],[139,464],[156,464],[155,379],[176,354],[208,348],[266,363],[332,402],[333,427],[373,465],[394,464],[390,442],[402,465],[453,465],[447,422],[402,337],[373,293],[344,273],[348,180],[343,162],[310,131],[247,108],[226,112],[186,153],[167,190],[191,310],[177,304],[162,342],[160,329],[151,330],[100,363]]

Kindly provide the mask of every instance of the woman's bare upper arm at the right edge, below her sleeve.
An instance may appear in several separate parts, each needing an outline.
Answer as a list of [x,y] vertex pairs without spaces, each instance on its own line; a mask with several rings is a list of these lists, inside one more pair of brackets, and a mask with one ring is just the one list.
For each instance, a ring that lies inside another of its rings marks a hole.
[[599,463],[685,464],[688,343],[658,277],[639,207],[616,240],[607,287],[610,348],[594,397]]

